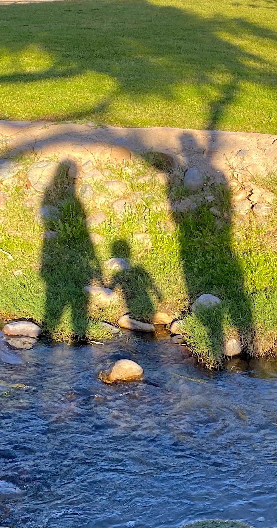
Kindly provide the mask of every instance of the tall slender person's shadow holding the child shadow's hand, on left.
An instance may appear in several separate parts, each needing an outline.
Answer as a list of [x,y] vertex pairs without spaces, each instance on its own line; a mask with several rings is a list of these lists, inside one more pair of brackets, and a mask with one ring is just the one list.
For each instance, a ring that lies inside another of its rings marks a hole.
[[100,267],[86,228],[84,205],[76,195],[77,168],[59,164],[56,176],[44,192],[44,224],[41,277],[46,288],[45,323],[51,337],[82,338],[89,320],[84,287],[100,281]]

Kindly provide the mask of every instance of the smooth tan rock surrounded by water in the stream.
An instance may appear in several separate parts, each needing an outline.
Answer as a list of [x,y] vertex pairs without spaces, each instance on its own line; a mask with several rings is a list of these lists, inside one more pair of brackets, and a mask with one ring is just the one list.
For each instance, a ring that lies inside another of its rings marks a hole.
[[118,360],[108,370],[99,373],[104,383],[139,380],[142,376],[142,367],[132,360]]

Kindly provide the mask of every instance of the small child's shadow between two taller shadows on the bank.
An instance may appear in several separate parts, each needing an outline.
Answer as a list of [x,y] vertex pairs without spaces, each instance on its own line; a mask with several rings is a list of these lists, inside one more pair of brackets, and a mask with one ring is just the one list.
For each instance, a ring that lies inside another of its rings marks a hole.
[[124,259],[128,268],[116,271],[110,288],[119,288],[124,296],[126,312],[135,319],[149,322],[156,312],[156,303],[162,295],[154,284],[153,277],[142,266],[131,263],[130,245],[124,239],[112,243],[112,258]]

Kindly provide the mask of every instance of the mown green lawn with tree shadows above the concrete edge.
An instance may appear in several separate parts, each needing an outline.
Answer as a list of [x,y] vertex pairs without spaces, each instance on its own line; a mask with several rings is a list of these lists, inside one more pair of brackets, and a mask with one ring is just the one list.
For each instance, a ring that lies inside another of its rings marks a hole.
[[277,130],[275,0],[0,7],[0,118]]

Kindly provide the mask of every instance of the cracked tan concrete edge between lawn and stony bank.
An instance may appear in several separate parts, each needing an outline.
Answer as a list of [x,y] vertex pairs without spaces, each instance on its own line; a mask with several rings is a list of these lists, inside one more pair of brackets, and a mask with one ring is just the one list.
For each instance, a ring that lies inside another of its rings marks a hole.
[[197,166],[215,183],[277,171],[277,135],[258,133],[0,120],[1,144],[2,158],[33,152],[38,159],[72,158],[77,166],[92,157],[107,162],[104,153],[115,147],[134,154],[157,152],[172,157],[174,168]]

